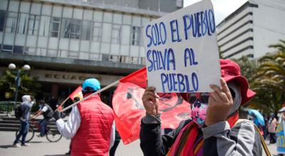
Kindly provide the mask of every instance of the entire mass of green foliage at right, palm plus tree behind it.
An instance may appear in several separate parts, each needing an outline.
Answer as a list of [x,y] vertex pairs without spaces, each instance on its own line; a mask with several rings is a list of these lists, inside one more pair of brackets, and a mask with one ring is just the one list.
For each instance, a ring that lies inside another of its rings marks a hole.
[[267,114],[276,113],[285,102],[285,40],[269,47],[275,48],[276,52],[268,53],[258,61],[248,57],[232,59],[239,64],[250,88],[257,93],[248,106]]

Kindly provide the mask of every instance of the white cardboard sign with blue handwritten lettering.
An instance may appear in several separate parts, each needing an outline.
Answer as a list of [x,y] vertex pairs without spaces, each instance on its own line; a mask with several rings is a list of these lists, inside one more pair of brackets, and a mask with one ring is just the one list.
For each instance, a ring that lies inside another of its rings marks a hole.
[[219,84],[219,50],[212,2],[147,23],[143,29],[148,86],[157,92],[210,92]]

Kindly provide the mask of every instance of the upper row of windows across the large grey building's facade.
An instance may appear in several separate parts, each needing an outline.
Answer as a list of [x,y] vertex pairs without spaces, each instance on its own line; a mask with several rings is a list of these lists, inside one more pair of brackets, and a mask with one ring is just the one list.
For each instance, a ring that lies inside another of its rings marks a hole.
[[[104,43],[124,45],[142,45],[141,28],[138,26],[39,16],[28,13],[19,13],[19,16],[17,16],[18,13],[10,11],[6,18],[6,13],[6,11],[0,10],[0,31],[4,31],[6,19],[6,33],[93,40],[95,42],[102,41]],[[130,38],[130,40],[126,38]]]

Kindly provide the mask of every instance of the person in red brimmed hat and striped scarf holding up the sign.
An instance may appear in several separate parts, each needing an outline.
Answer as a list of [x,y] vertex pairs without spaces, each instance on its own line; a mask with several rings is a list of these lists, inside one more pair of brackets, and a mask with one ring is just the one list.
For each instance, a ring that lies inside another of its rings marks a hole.
[[140,128],[144,155],[262,155],[259,133],[251,121],[238,122],[239,106],[255,95],[240,68],[232,60],[220,60],[221,87],[210,85],[212,93],[181,94],[191,106],[192,119],[182,121],[167,135],[161,135],[155,87],[142,96],[146,116]]

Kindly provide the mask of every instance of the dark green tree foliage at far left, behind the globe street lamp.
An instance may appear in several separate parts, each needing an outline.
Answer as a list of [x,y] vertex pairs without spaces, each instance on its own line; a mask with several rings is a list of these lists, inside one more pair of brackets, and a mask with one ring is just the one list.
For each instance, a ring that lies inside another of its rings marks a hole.
[[[18,92],[18,101],[21,100],[21,96],[29,94],[36,96],[39,92],[41,84],[36,82],[35,77],[30,77],[30,74],[21,72],[21,86]],[[0,92],[4,93],[0,96],[0,101],[14,100],[14,94],[16,91],[15,85],[16,73],[7,70],[0,78]]]

